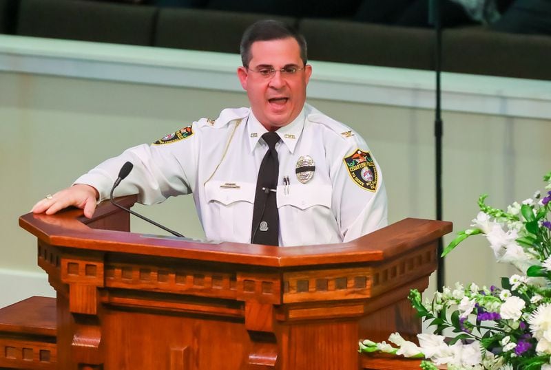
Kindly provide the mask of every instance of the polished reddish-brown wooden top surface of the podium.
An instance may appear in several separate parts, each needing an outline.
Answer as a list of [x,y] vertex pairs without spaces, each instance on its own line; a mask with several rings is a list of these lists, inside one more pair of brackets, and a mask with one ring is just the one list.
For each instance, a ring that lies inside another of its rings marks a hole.
[[[132,205],[135,197],[126,198]],[[56,215],[28,213],[19,217],[19,226],[52,246],[274,268],[383,261],[435,241],[452,230],[448,221],[408,218],[347,243],[282,248],[148,237],[87,226],[95,219],[118,212],[121,211],[107,203],[96,209],[92,219],[86,219],[79,209],[64,210]]]

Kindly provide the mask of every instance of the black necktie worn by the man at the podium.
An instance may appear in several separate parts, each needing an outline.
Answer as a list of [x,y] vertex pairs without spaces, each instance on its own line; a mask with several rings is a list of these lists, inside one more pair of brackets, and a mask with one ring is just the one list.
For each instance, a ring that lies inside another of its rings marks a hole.
[[278,187],[280,163],[275,144],[280,141],[280,137],[275,132],[267,132],[262,135],[262,139],[269,149],[262,159],[256,180],[251,243],[278,246],[280,217],[275,189]]

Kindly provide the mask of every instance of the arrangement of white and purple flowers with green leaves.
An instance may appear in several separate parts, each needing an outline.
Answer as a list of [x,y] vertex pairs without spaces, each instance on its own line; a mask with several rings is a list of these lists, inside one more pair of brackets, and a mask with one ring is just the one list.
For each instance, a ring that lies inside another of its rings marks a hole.
[[424,358],[422,369],[551,370],[551,172],[543,179],[544,197],[537,192],[507,210],[487,206],[482,195],[472,228],[459,232],[443,253],[484,235],[497,262],[514,265],[518,274],[502,278],[501,287],[456,283],[425,302],[412,290],[408,298],[433,334],[418,334],[419,345],[397,333],[391,343],[363,340],[360,352]]

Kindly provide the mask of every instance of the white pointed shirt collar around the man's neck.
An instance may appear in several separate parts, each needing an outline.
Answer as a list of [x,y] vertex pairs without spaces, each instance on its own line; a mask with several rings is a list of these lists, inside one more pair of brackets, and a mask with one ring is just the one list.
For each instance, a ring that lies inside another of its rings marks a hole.
[[[297,145],[298,139],[302,134],[302,129],[304,129],[304,118],[305,113],[304,109],[298,113],[297,118],[295,118],[291,123],[286,124],[284,127],[280,127],[278,131],[275,131],[280,136],[281,141],[287,146],[287,149],[291,153],[294,153],[295,146]],[[249,144],[251,152],[258,144],[258,140],[267,133],[268,130],[264,127],[258,119],[254,116],[251,109],[249,114],[249,119],[247,120],[247,135],[249,135]]]

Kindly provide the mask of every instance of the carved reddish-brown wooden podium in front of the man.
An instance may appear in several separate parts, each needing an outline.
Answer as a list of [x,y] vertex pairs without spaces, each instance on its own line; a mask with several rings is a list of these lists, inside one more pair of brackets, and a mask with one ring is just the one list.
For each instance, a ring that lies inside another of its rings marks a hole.
[[93,219],[19,224],[57,292],[63,370],[359,369],[360,338],[419,332],[406,296],[426,289],[452,228],[404,219],[341,244],[202,243],[129,232],[108,203]]

